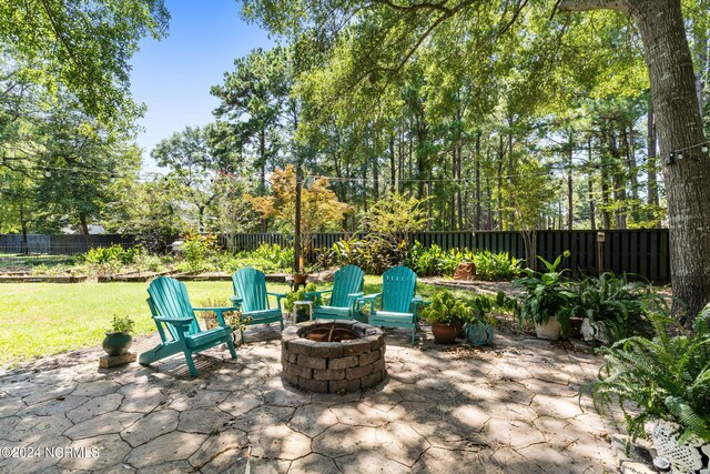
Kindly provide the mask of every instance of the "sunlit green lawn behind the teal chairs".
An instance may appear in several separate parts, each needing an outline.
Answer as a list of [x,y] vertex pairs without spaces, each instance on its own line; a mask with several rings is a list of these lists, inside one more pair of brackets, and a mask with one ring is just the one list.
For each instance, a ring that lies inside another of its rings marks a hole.
[[[231,282],[186,282],[193,305],[229,303]],[[379,291],[379,276],[365,278],[365,292]],[[322,285],[327,286],[327,285]],[[103,340],[114,314],[135,320],[135,333],[155,331],[145,303],[145,283],[4,283],[0,285],[0,367],[32,357],[90,347]],[[270,291],[286,292],[284,283]],[[429,295],[432,285],[419,285]]]

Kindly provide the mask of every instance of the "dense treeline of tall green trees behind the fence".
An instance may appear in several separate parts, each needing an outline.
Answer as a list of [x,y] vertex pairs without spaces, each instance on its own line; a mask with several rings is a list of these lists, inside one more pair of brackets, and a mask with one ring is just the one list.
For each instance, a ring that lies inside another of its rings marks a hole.
[[[701,3],[687,6],[687,31],[707,109]],[[125,135],[70,93],[48,99],[6,47],[1,230],[274,230],[245,195],[268,194],[287,164],[331,177],[354,209],[348,231],[392,191],[425,200],[428,230],[662,225],[663,158],[635,27],[610,12],[530,13],[496,36],[505,17],[494,10],[443,24],[396,75],[348,36],[239,58],[212,88],[215,123],[163,140],[151,154],[170,173],[148,182]]]

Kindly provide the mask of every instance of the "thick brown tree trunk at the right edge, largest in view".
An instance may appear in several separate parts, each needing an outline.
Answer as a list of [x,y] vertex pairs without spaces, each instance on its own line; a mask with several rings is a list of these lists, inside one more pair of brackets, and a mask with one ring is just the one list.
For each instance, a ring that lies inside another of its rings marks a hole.
[[[651,82],[661,157],[683,150],[663,170],[668,195],[673,314],[689,325],[710,301],[710,161],[696,78],[678,0],[562,0],[561,10],[615,9],[639,26]],[[687,150],[684,150],[687,149]],[[687,305],[687,313],[677,303]]]

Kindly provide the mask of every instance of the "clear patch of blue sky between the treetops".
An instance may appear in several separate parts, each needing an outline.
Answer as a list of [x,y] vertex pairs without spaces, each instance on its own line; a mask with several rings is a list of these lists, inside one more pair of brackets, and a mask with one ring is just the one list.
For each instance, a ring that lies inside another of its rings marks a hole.
[[235,0],[166,0],[165,4],[172,16],[169,37],[144,39],[132,61],[133,99],[148,105],[139,121],[144,131],[138,137],[146,171],[156,170],[150,152],[159,141],[214,120],[212,110],[219,102],[210,95],[210,87],[234,69],[234,59],[273,44],[264,31],[240,18]]

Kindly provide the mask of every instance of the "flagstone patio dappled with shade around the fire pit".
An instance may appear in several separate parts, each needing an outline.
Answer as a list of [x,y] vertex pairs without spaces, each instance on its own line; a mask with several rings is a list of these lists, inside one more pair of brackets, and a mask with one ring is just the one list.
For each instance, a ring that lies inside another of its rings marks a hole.
[[601,365],[589,353],[388,332],[385,383],[341,396],[284,386],[278,333],[253,331],[236,361],[197,355],[196,379],[180,356],[98,370],[97,350],[0,375],[0,472],[617,472],[617,424],[577,396]]

